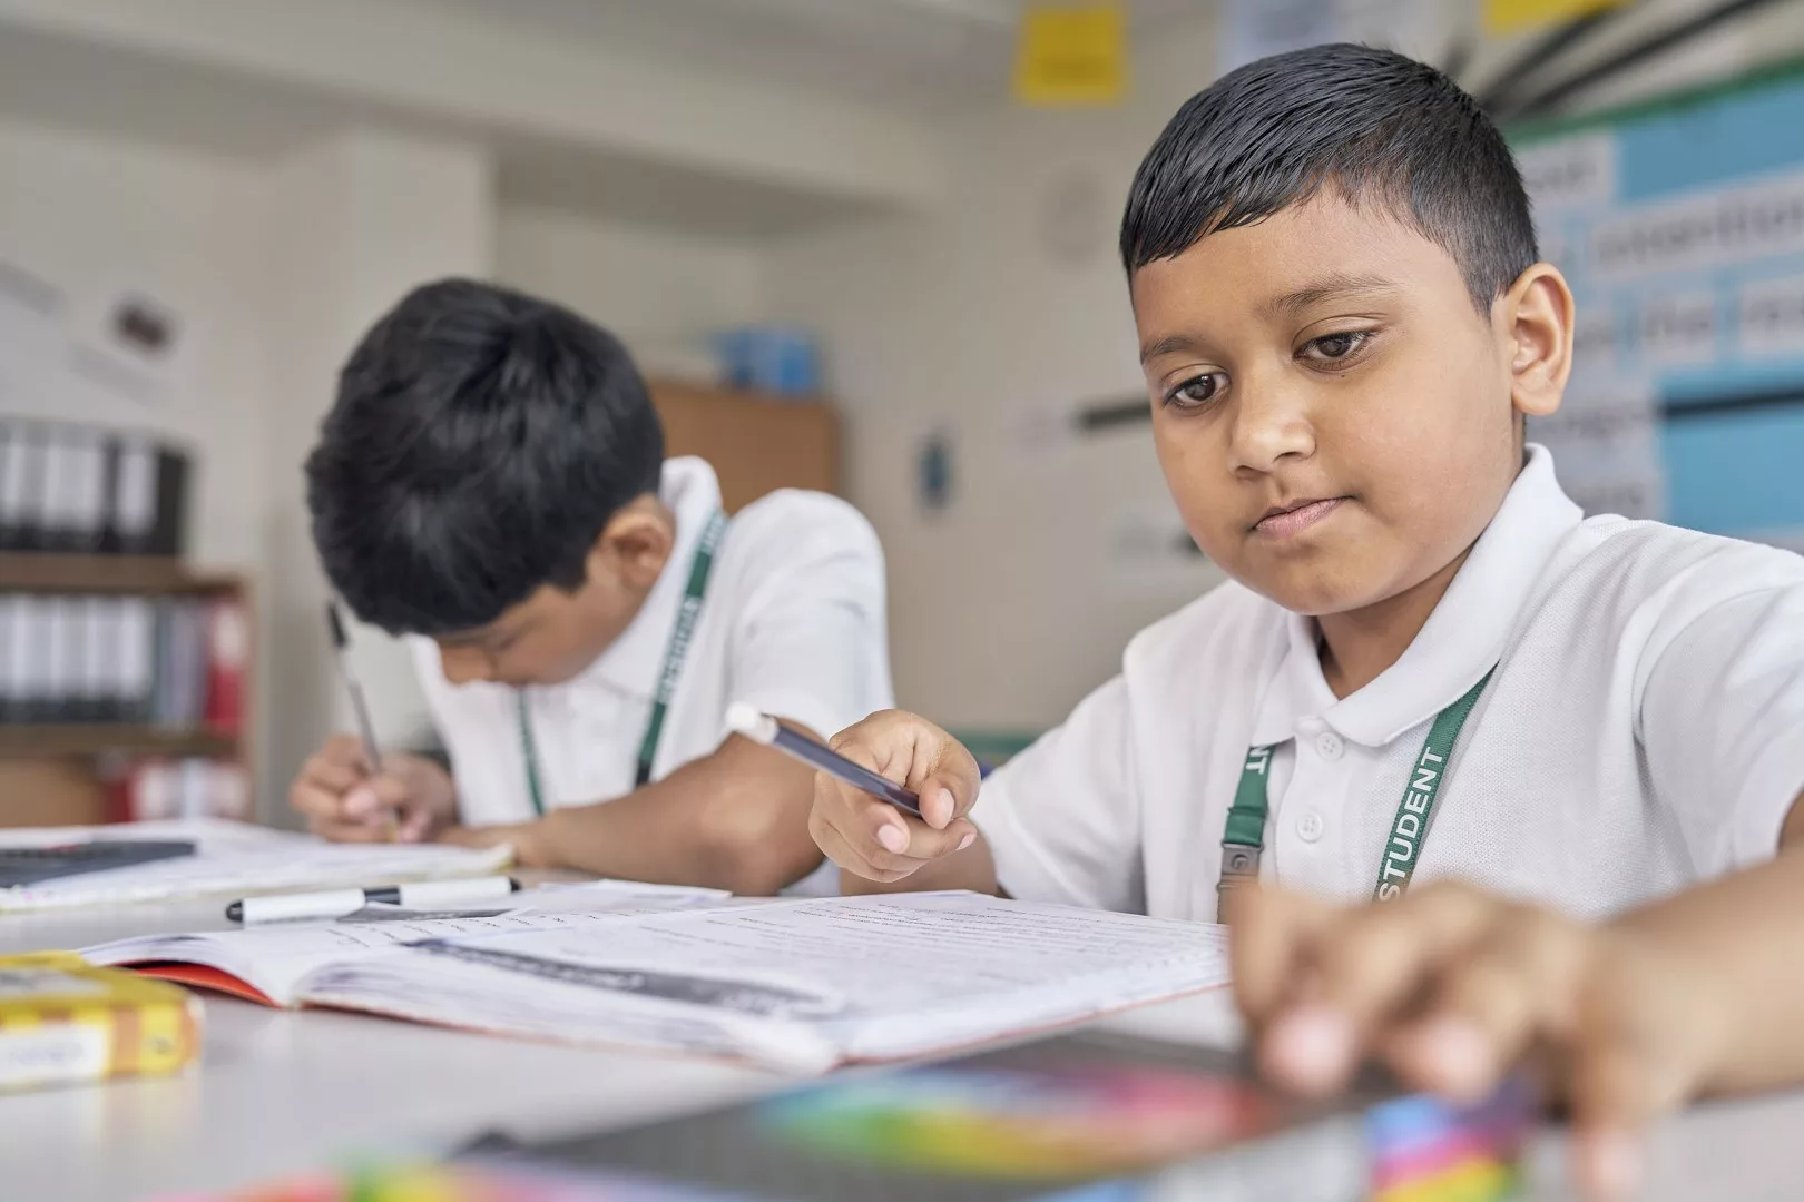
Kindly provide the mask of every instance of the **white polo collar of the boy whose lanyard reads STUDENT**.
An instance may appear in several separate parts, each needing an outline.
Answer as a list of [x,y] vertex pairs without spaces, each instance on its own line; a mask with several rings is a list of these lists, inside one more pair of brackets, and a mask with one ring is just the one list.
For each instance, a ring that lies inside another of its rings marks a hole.
[[1375,748],[1434,717],[1503,658],[1541,571],[1582,519],[1553,476],[1553,456],[1530,443],[1528,463],[1447,595],[1378,679],[1335,699],[1322,678],[1315,620],[1288,615],[1284,661],[1259,706],[1254,746],[1283,742],[1297,733],[1299,719],[1321,717],[1353,742]]

